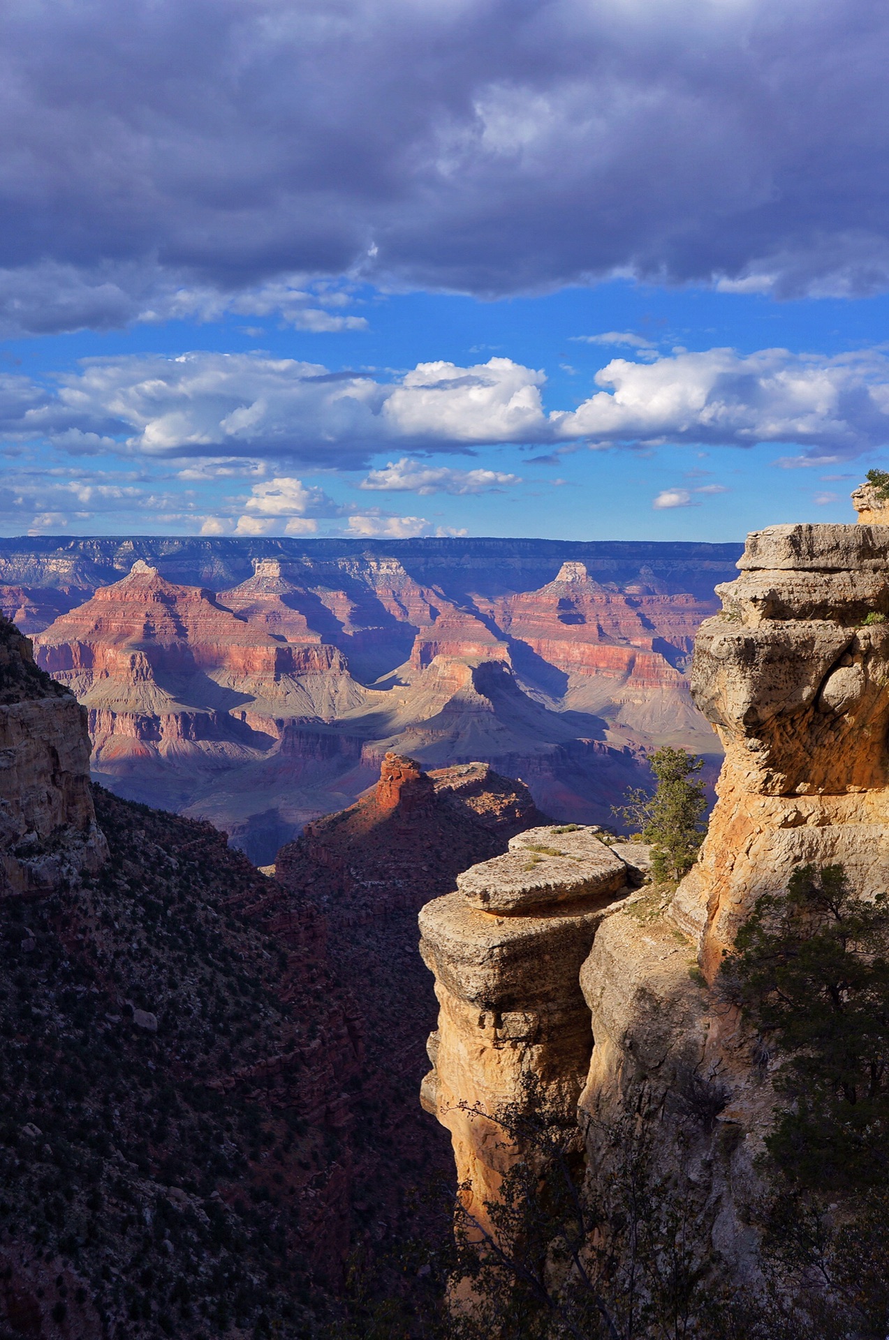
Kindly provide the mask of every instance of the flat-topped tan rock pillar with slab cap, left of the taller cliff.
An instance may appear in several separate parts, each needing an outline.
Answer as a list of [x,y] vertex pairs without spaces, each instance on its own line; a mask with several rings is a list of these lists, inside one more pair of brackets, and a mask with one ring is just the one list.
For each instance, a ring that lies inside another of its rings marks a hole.
[[595,831],[539,827],[420,914],[440,1006],[421,1103],[451,1131],[464,1203],[481,1225],[519,1152],[497,1115],[532,1083],[554,1120],[575,1120],[593,1047],[581,967],[637,879]]

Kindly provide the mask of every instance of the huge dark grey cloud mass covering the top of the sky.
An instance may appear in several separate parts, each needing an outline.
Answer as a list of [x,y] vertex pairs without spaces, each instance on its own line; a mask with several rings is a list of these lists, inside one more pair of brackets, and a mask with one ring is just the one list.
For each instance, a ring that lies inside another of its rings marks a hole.
[[0,322],[337,328],[275,284],[349,271],[870,291],[888,58],[877,0],[12,0]]

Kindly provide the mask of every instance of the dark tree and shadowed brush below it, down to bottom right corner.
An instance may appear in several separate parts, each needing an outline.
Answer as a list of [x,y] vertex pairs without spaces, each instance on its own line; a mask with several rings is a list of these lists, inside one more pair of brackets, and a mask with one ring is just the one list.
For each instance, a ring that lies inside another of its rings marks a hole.
[[889,896],[842,866],[764,895],[719,977],[778,1063],[784,1100],[760,1171],[776,1286],[751,1336],[884,1340],[889,1331]]

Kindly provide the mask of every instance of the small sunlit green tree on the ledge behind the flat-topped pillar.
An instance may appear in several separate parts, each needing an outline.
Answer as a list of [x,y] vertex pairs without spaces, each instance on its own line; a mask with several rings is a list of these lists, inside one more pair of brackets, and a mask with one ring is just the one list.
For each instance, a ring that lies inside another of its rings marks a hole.
[[704,840],[704,783],[692,780],[704,760],[687,749],[664,745],[652,754],[649,766],[656,780],[654,793],[630,789],[626,804],[613,812],[652,844],[652,874],[657,880],[681,879],[695,864]]

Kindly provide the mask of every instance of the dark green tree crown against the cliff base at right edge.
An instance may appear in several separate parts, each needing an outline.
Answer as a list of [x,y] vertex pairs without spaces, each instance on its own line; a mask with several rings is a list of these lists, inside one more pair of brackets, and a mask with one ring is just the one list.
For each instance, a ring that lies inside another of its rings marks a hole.
[[857,898],[841,866],[794,871],[766,895],[721,970],[782,1065],[790,1100],[768,1151],[801,1187],[889,1182],[889,899]]

